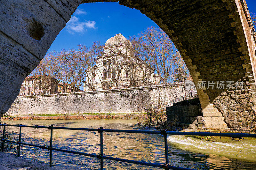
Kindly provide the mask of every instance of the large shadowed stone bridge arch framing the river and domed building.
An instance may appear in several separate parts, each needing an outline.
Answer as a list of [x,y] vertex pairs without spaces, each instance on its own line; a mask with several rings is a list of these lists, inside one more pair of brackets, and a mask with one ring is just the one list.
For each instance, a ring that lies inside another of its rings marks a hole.
[[[104,1],[1,1],[1,116],[71,14],[80,3],[89,2]],[[243,89],[238,90],[235,83],[230,89],[197,90],[202,126],[244,130],[250,125],[255,116],[256,36],[244,0],[120,0],[119,4],[140,10],[168,34],[195,85],[200,81],[244,81]]]

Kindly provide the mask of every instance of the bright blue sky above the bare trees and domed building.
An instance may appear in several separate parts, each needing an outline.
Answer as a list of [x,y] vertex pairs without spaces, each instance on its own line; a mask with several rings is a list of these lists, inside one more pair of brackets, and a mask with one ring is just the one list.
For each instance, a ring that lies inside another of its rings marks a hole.
[[[246,0],[246,3],[249,11],[256,13],[256,0]],[[79,44],[91,47],[94,41],[105,43],[117,33],[122,33],[129,38],[149,26],[158,27],[139,10],[119,5],[119,3],[80,4],[47,53],[52,50],[77,48]]]

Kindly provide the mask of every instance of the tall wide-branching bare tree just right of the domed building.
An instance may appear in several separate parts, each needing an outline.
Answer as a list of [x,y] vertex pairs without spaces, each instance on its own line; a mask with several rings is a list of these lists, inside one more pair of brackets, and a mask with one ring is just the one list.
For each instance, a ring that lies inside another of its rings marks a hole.
[[172,81],[172,59],[176,55],[176,48],[170,38],[161,28],[148,27],[139,34],[142,50],[140,56],[153,67],[161,78],[161,83]]

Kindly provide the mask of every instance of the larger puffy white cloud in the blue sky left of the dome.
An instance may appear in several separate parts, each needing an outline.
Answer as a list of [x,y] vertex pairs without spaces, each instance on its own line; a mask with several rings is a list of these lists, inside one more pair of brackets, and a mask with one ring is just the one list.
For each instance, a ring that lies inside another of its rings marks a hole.
[[95,24],[95,21],[79,22],[79,18],[73,15],[67,22],[66,28],[67,31],[71,34],[84,33],[85,31],[87,31],[86,27],[96,29]]

